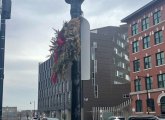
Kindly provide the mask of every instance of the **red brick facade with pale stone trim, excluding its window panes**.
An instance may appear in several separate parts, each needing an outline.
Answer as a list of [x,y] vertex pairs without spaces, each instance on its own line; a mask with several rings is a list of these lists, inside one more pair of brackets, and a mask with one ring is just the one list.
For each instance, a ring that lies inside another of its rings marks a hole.
[[[131,100],[132,100],[132,110],[133,114],[155,114],[162,115],[160,99],[165,96],[165,87],[158,87],[158,74],[165,73],[165,63],[162,65],[156,65],[156,53],[164,52],[165,56],[165,0],[157,0],[159,2],[154,2],[153,4],[148,4],[147,7],[139,9],[138,12],[135,12],[135,15],[130,15],[130,17],[124,22],[129,24],[129,57],[130,57],[130,77],[131,77]],[[161,2],[160,2],[161,1]],[[151,2],[152,3],[152,2]],[[154,25],[153,23],[153,14],[160,10],[161,21]],[[149,18],[149,28],[142,31],[142,19],[145,17]],[[132,35],[132,25],[138,24],[138,33]],[[162,30],[163,41],[160,44],[155,44],[154,33]],[[143,49],[143,38],[149,36],[150,38],[150,47]],[[139,51],[133,53],[132,43],[138,40]],[[149,69],[144,69],[144,57],[151,56],[152,67]],[[134,72],[134,60],[140,60],[140,71]],[[165,59],[165,57],[164,57]],[[165,61],[165,60],[164,60]],[[152,76],[152,89],[146,90],[146,81],[145,77]],[[135,91],[135,81],[136,79],[141,80],[141,90]],[[147,111],[147,92],[148,98],[154,100],[155,110]],[[142,111],[136,111],[136,100],[142,101]]]

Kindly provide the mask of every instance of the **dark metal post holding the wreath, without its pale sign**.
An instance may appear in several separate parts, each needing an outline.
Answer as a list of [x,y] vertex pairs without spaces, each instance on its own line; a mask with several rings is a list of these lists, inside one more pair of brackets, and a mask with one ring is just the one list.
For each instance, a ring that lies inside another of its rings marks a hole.
[[[80,17],[82,14],[81,4],[84,0],[65,0],[71,5],[71,18]],[[81,61],[72,62],[71,79],[72,79],[72,99],[71,99],[71,120],[81,120]]]

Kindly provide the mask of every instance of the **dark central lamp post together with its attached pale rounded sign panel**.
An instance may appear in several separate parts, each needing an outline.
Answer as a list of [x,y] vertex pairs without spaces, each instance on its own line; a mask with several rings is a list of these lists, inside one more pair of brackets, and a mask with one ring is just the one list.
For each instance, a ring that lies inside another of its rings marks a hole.
[[82,17],[81,4],[84,0],[65,0],[71,5],[71,19],[80,18],[81,52],[71,66],[71,120],[81,120],[83,108],[83,81],[90,80],[90,24]]

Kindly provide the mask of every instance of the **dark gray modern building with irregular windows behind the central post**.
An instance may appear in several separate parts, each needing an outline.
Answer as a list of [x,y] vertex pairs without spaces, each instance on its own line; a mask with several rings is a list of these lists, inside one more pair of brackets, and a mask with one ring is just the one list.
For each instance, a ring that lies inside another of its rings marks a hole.
[[[126,25],[91,30],[91,80],[82,81],[84,120],[98,120],[102,117],[100,110],[115,113],[110,109],[129,105],[129,98],[123,98],[130,92],[127,30]],[[52,62],[50,58],[39,64],[38,110],[41,114],[70,120],[70,68],[66,80],[51,84]]]

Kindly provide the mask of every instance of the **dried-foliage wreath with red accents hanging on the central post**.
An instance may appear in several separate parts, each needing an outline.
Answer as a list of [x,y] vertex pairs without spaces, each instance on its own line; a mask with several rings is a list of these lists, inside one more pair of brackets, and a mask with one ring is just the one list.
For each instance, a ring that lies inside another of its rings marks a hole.
[[54,61],[51,80],[56,83],[57,78],[65,78],[69,64],[80,55],[80,19],[74,18],[65,22],[60,31],[55,30],[51,43],[50,52]]

